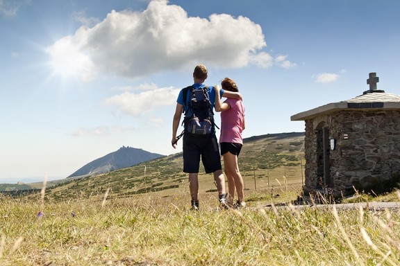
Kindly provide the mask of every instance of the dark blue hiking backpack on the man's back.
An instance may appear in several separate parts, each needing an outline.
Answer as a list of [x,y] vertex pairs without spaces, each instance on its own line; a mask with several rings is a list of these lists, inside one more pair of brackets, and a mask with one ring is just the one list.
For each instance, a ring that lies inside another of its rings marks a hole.
[[[190,90],[189,101],[187,99],[188,90]],[[202,89],[194,89],[193,86],[185,87],[183,89],[183,106],[185,114],[183,124],[186,132],[194,135],[215,133],[213,107],[208,96],[207,86]],[[217,127],[217,125],[215,126]]]

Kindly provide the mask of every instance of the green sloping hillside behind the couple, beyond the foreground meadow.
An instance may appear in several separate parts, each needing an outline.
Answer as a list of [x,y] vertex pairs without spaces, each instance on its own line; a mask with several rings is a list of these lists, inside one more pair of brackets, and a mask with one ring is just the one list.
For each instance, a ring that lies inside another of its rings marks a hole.
[[[253,136],[244,140],[239,164],[246,189],[274,190],[303,182],[304,133]],[[182,172],[182,154],[159,157],[136,166],[100,175],[88,175],[47,188],[51,199],[131,197],[157,192],[160,196],[187,194],[188,177]],[[199,193],[215,191],[212,175],[199,174]]]

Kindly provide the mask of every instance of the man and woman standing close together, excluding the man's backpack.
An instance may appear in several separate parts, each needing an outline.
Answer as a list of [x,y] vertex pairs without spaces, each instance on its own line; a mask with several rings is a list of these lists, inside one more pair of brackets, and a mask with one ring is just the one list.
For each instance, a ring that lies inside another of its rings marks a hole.
[[[224,172],[228,179],[228,198],[225,190],[225,178],[222,173],[222,165],[215,135],[215,124],[211,117],[210,134],[197,135],[191,134],[188,130],[183,132],[183,172],[189,174],[189,188],[192,209],[199,209],[199,164],[200,159],[203,162],[206,173],[213,172],[215,184],[217,185],[219,203],[224,208],[229,206],[245,206],[243,200],[244,183],[238,166],[238,156],[243,145],[242,130],[244,130],[244,106],[242,96],[239,94],[238,87],[230,78],[225,78],[222,82],[222,88],[219,85],[215,87],[206,87],[203,83],[207,79],[208,71],[203,65],[194,68],[193,80],[191,86],[193,90],[206,91],[206,96],[210,103],[210,112],[213,114],[213,107],[221,113],[221,135],[219,143],[221,154],[224,157]],[[176,136],[178,126],[181,121],[182,113],[187,118],[190,114],[190,96],[194,95],[189,89],[182,89],[176,100],[176,110],[172,123],[172,146],[176,148],[176,142],[180,136]],[[222,102],[221,97],[227,99]],[[186,121],[184,119],[184,121]],[[185,129],[187,129],[185,123]],[[238,201],[234,204],[235,190],[238,194]]]

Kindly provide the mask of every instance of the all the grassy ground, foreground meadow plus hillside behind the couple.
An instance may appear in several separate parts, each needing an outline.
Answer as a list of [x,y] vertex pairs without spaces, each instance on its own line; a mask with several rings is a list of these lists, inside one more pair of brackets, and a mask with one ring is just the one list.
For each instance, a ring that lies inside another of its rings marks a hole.
[[400,265],[399,210],[290,204],[303,184],[302,138],[244,145],[246,209],[219,210],[212,175],[200,175],[200,211],[190,211],[179,154],[0,195],[0,265]]

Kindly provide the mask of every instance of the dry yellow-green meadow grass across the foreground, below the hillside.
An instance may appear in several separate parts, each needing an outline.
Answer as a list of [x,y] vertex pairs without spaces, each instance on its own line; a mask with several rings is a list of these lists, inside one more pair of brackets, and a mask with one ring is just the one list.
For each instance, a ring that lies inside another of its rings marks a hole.
[[399,211],[278,206],[299,190],[247,190],[249,207],[227,211],[201,193],[199,212],[185,190],[43,205],[40,193],[3,196],[0,265],[400,264]]

